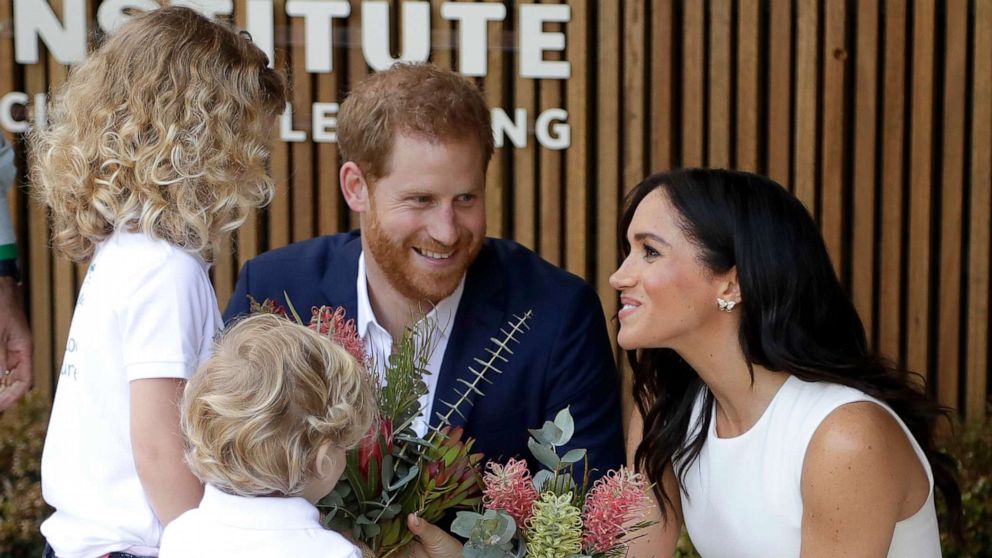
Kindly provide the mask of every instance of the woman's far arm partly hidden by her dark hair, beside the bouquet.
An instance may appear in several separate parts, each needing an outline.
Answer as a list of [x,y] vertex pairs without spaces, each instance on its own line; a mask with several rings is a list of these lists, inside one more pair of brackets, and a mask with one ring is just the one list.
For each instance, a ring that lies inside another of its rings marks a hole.
[[[627,466],[634,468],[634,453],[644,436],[644,417],[635,408],[631,413],[630,425],[627,430]],[[682,501],[679,498],[679,485],[675,479],[675,472],[672,465],[665,468],[662,476],[665,486],[665,493],[672,498],[672,506],[668,511],[668,522],[661,516],[661,506],[655,499],[654,494],[650,494],[652,505],[645,513],[644,519],[654,522],[654,525],[642,529],[635,533],[634,540],[630,542],[627,556],[631,558],[667,558],[675,554],[675,546],[679,542],[679,534],[682,531]]]

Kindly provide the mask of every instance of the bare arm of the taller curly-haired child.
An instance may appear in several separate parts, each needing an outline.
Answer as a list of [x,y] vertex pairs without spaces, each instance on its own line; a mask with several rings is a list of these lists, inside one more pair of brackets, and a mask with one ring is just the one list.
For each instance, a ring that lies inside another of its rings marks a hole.
[[138,478],[163,525],[200,505],[203,485],[183,460],[179,400],[185,382],[150,378],[131,382],[131,450]]

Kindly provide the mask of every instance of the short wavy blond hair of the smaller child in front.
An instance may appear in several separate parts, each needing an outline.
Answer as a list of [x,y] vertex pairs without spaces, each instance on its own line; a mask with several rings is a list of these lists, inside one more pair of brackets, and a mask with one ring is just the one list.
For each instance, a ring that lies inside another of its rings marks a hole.
[[375,419],[372,378],[327,337],[273,314],[229,327],[186,385],[186,459],[239,496],[299,496],[321,445],[356,445]]

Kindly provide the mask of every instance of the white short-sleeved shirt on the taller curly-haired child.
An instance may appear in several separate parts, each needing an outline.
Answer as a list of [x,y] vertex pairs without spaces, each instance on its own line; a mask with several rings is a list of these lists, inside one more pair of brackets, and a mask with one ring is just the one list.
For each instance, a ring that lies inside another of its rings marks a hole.
[[156,552],[162,526],[131,451],[129,382],[188,379],[222,324],[207,264],[141,233],[96,250],[76,301],[42,457],[59,558]]

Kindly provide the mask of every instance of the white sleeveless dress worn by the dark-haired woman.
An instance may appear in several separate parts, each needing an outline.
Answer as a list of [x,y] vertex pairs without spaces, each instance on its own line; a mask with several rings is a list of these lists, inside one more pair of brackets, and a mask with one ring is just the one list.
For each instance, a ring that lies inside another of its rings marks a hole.
[[[702,397],[696,401],[696,420],[702,401]],[[888,556],[939,557],[933,473],[906,425],[887,405],[856,389],[804,382],[795,376],[789,376],[758,422],[744,434],[718,438],[716,419],[711,418],[702,451],[686,471],[687,494],[682,495],[686,529],[700,555],[798,557],[806,448],[827,415],[856,401],[874,402],[895,417],[930,481],[930,496],[923,507],[896,524]],[[693,424],[699,427],[698,422]]]

